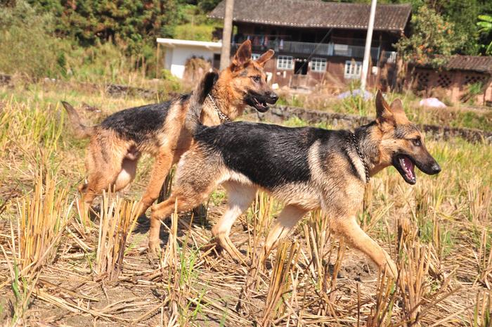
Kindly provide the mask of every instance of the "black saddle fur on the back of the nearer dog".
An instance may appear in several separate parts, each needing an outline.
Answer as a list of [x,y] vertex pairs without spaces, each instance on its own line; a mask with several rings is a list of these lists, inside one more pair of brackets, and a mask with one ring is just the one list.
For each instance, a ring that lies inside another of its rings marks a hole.
[[[226,166],[252,182],[273,188],[311,178],[309,148],[321,142],[321,156],[347,148],[346,131],[312,127],[290,128],[273,124],[231,122],[201,127],[195,140],[221,153]],[[335,144],[339,148],[333,146]],[[323,162],[323,158],[321,158]]]

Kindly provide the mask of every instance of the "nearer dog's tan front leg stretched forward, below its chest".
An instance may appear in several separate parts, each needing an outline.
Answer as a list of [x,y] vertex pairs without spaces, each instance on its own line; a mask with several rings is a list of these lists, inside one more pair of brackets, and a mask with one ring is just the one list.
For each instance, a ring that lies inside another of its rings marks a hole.
[[388,252],[384,251],[380,245],[370,238],[361,229],[361,226],[358,226],[355,216],[331,219],[330,227],[335,233],[344,236],[351,246],[370,257],[380,269],[386,269],[387,273],[393,277],[398,275],[396,264],[394,264]]

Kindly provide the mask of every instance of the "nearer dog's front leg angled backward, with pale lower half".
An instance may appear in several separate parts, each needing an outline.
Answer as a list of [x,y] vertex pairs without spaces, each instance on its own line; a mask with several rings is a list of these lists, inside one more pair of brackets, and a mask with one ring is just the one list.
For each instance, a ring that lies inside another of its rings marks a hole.
[[294,205],[286,205],[282,212],[278,215],[278,219],[273,227],[270,229],[268,236],[266,236],[266,241],[264,245],[264,250],[262,255],[263,259],[266,259],[268,253],[273,249],[277,242],[287,236],[292,227],[294,227],[299,219],[304,217],[307,210],[302,209]]

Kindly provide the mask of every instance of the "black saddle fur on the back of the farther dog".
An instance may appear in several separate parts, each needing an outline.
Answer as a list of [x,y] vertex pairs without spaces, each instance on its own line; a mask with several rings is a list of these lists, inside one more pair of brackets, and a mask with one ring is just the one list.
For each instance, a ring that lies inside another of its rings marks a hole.
[[118,111],[103,120],[101,127],[112,129],[122,139],[142,142],[148,138],[148,134],[162,129],[172,103],[183,103],[188,98],[190,94],[184,94],[172,101]]

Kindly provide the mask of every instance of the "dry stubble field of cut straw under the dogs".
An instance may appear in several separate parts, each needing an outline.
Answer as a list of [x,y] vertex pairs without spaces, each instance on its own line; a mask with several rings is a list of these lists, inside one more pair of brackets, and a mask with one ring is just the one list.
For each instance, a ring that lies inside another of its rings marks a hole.
[[332,235],[320,212],[259,265],[281,208],[261,193],[231,237],[252,265],[235,264],[207,246],[220,189],[207,214],[164,222],[151,261],[149,224],[134,212],[152,160],[81,219],[86,141],[72,138],[61,100],[87,122],[148,103],[57,84],[0,87],[0,325],[492,326],[490,144],[429,140],[441,174],[419,172],[409,186],[390,168],[370,182],[358,218],[397,262],[396,281]]

